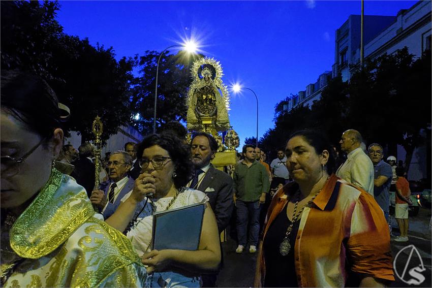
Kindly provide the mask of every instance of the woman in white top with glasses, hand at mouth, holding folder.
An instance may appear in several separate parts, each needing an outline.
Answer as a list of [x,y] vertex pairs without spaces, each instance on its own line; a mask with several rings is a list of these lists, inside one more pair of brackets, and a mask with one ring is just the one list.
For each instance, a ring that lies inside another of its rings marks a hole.
[[[151,250],[153,213],[207,202],[198,190],[184,188],[192,176],[190,148],[169,132],[150,135],[137,148],[141,174],[106,222],[119,231],[129,223],[127,237],[142,257],[148,287],[199,287],[199,275],[217,271],[221,261],[218,226],[208,205],[198,250]],[[176,235],[172,235],[176,241]]]

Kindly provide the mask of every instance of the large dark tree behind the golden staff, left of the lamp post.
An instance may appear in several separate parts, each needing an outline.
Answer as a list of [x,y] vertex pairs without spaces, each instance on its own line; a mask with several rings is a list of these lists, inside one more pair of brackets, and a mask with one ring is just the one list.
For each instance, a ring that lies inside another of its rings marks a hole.
[[129,87],[133,79],[133,60],[114,58],[112,47],[93,47],[87,39],[64,36],[69,50],[54,54],[59,63],[57,78],[49,81],[59,100],[71,109],[66,123],[68,130],[77,131],[81,141],[94,139],[91,131],[96,115],[101,117],[102,140],[117,133],[131,118]]

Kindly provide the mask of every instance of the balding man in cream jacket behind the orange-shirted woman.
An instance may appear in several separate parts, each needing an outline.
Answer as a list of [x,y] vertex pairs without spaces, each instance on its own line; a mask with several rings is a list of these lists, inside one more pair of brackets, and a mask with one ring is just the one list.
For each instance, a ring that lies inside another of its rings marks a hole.
[[361,148],[363,139],[357,130],[347,130],[342,134],[342,151],[347,153],[347,160],[336,171],[336,176],[362,188],[374,196],[374,164]]

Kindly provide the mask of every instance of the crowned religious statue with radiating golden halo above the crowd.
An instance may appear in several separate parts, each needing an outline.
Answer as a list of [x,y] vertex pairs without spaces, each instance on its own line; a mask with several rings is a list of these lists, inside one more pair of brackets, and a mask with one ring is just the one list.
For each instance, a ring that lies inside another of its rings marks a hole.
[[228,118],[229,95],[222,83],[222,68],[213,58],[194,62],[194,80],[188,93],[188,130],[202,131],[216,137],[230,129]]

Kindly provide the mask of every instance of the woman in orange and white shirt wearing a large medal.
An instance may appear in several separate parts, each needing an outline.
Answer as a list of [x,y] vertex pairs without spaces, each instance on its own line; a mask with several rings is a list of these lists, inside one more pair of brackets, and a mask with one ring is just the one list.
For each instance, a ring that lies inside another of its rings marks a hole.
[[286,165],[294,182],[268,208],[256,287],[381,287],[394,280],[383,211],[333,174],[332,152],[315,131],[289,138]]

